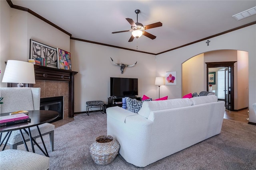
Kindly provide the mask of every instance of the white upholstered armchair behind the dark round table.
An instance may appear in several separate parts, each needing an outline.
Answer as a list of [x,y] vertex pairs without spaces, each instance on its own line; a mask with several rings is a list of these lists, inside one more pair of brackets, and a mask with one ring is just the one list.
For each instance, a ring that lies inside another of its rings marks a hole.
[[[40,110],[40,88],[0,88],[0,96],[3,97],[1,104],[1,113],[19,111],[19,110]],[[54,128],[50,123],[44,123],[38,126],[43,135],[50,135],[50,145],[54,150]],[[40,137],[37,127],[30,128],[34,139]],[[24,132],[25,141],[29,141],[29,136]],[[2,133],[4,136],[5,133]],[[5,142],[4,142],[5,143]],[[7,145],[10,149],[17,149],[18,145],[23,144],[20,131],[12,131]]]

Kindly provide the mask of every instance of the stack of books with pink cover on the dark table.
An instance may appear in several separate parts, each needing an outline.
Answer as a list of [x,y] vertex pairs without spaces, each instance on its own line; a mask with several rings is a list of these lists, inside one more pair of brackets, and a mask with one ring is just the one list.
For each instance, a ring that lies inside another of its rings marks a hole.
[[30,122],[28,115],[19,113],[15,115],[0,116],[0,126]]

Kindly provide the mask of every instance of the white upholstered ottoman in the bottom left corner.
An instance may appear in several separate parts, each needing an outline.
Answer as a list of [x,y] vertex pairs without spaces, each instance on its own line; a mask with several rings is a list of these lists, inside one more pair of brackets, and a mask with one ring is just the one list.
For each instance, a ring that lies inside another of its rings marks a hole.
[[0,152],[1,170],[47,170],[50,158],[24,150],[8,149]]

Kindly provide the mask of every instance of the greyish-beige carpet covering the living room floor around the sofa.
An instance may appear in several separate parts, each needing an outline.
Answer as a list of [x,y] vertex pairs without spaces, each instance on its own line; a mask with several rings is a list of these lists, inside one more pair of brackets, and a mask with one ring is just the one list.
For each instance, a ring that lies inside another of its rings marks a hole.
[[[120,155],[110,164],[103,166],[95,164],[90,157],[90,144],[96,137],[106,135],[106,114],[96,112],[88,116],[84,113],[74,118],[74,121],[55,129],[53,152],[50,151],[48,137],[44,137],[50,155],[50,170],[256,169],[255,125],[224,119],[220,135],[206,139],[145,168],[136,168]],[[24,145],[20,145],[18,149],[24,150]],[[36,149],[36,153],[42,154],[39,149]]]

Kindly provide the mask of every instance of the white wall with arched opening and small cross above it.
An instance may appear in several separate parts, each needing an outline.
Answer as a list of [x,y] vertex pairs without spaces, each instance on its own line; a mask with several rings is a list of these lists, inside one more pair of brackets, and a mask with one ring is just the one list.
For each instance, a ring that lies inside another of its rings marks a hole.
[[[256,102],[256,25],[251,25],[243,29],[232,31],[218,37],[210,39],[210,45],[207,46],[205,41],[198,42],[180,49],[163,53],[157,58],[156,69],[160,74],[170,70],[177,71],[177,85],[167,86],[166,93],[172,92],[172,98],[181,98],[182,91],[179,90],[181,86],[181,64],[196,56],[207,51],[221,50],[221,49],[235,49],[248,52],[249,63],[249,111],[250,122],[256,123],[256,116],[252,109],[252,104]],[[204,70],[204,77],[206,79],[206,69]],[[206,87],[206,80],[204,80]],[[205,89],[206,90],[206,89]]]

